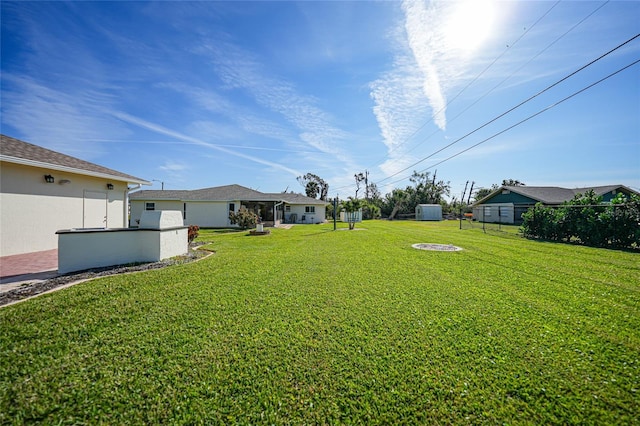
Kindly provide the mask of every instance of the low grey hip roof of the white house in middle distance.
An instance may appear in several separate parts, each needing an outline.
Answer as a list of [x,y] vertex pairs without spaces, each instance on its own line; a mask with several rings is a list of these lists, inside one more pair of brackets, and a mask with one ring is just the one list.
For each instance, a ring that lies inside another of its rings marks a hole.
[[194,190],[153,190],[132,192],[130,200],[154,201],[284,201],[288,204],[328,204],[302,194],[264,193],[241,185],[214,186]]

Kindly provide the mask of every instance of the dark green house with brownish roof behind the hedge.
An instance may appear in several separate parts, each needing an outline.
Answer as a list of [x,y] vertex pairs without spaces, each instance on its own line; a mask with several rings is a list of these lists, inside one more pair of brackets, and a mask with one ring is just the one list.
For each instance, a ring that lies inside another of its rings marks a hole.
[[572,200],[576,195],[585,194],[590,190],[602,196],[604,203],[610,202],[618,193],[623,193],[626,196],[640,195],[624,185],[573,189],[555,186],[501,186],[473,204],[473,218],[480,222],[519,225],[522,223],[522,214],[536,203],[559,206]]

